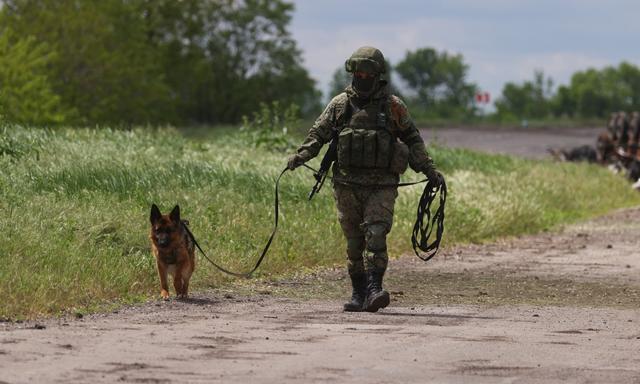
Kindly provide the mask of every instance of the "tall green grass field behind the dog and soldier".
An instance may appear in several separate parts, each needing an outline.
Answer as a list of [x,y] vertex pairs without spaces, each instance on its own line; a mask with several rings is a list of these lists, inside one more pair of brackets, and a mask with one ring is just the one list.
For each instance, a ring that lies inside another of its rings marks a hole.
[[[233,270],[247,270],[271,232],[273,184],[286,155],[252,148],[232,129],[185,135],[6,127],[0,134],[2,318],[156,297],[148,240],[154,202],[163,212],[180,204],[209,256]],[[430,152],[450,191],[444,246],[537,232],[640,203],[624,179],[595,166],[441,147]],[[411,171],[406,176],[420,178]],[[305,169],[283,177],[281,227],[258,276],[343,264],[331,188],[308,202],[312,185]],[[421,191],[400,192],[392,256],[411,249]],[[200,258],[192,287],[229,279]]]

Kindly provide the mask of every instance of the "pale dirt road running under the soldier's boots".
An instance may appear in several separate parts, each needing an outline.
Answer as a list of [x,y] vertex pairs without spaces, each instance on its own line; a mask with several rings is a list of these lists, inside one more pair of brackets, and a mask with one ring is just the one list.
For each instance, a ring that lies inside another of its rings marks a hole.
[[0,324],[0,383],[638,383],[639,215],[394,260],[375,314],[328,270]]

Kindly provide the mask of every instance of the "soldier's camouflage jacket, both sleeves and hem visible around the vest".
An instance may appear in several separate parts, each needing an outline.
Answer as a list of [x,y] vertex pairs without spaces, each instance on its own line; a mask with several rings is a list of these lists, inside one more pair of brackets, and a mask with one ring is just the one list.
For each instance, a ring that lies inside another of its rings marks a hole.
[[[427,154],[427,150],[420,136],[420,132],[409,116],[404,102],[395,95],[389,95],[388,86],[383,83],[380,90],[376,92],[370,102],[378,102],[381,98],[388,98],[389,110],[391,113],[392,133],[409,147],[409,166],[416,172],[424,172],[433,167],[433,161]],[[322,146],[333,137],[338,124],[343,120],[344,113],[349,102],[349,98],[357,102],[355,91],[349,86],[345,92],[334,97],[324,112],[315,121],[302,145],[298,148],[298,154],[306,162],[318,155]],[[336,174],[334,166],[334,177],[340,178]],[[366,172],[359,175],[342,175],[349,181],[356,181],[366,184],[386,184],[397,183],[397,175],[376,175],[375,172]]]

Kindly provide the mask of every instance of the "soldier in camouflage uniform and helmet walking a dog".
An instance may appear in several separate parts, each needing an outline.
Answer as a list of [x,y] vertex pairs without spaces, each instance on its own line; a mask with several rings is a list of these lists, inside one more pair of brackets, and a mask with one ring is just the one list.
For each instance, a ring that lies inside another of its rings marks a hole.
[[390,301],[382,279],[399,175],[407,165],[437,185],[442,183],[442,175],[428,156],[407,107],[389,93],[381,78],[386,71],[382,52],[373,47],[358,48],[345,68],[352,74],[351,85],[331,100],[287,166],[291,170],[299,167],[317,156],[325,143],[334,137],[338,140],[333,191],[347,240],[353,288],[344,310],[376,312]]

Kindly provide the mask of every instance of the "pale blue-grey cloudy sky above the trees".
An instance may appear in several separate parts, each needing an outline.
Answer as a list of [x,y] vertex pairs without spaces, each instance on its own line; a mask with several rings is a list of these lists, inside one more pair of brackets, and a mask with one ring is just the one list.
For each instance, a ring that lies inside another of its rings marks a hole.
[[461,53],[469,80],[500,95],[506,82],[541,69],[556,85],[589,67],[640,65],[640,1],[295,0],[291,31],[325,93],[358,47],[393,64],[406,51]]

